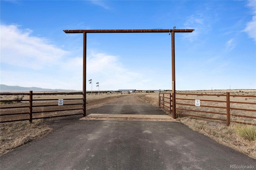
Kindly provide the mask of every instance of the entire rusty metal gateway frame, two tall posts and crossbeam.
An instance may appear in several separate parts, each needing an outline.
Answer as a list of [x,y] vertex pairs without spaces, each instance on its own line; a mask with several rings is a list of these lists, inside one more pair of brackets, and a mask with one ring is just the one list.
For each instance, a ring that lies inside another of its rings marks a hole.
[[[194,29],[155,29],[155,30],[63,30],[65,33],[83,33],[83,116],[86,116],[86,34],[87,33],[161,33],[166,32],[172,35],[172,92],[175,96],[175,44],[174,33],[175,32],[193,32]],[[173,118],[175,118],[175,97],[173,107]]]

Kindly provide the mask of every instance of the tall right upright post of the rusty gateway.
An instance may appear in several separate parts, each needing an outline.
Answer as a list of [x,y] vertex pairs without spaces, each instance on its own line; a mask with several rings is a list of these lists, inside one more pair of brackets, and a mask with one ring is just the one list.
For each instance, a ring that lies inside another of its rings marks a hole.
[[176,89],[175,89],[175,40],[174,40],[174,32],[172,32],[172,117],[176,118]]

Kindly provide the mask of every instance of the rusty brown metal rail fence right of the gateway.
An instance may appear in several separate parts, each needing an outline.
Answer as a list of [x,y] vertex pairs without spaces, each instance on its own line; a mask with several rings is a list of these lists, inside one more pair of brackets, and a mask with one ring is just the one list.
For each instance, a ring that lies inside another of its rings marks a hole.
[[[170,97],[166,98],[166,95]],[[175,104],[172,104],[173,96],[175,96]],[[207,96],[216,100],[209,99]],[[218,99],[219,97],[222,97],[222,100]],[[172,113],[174,118],[176,118],[176,115],[193,116],[225,121],[227,126],[230,125],[230,122],[256,125],[256,101],[241,102],[235,99],[232,100],[231,97],[256,100],[256,96],[230,95],[229,92],[226,92],[226,94],[159,93],[159,107],[168,113]],[[196,106],[195,103],[192,104],[195,100],[198,100],[198,102],[200,100],[199,106]],[[170,106],[166,106],[164,104],[166,102],[170,103]]]

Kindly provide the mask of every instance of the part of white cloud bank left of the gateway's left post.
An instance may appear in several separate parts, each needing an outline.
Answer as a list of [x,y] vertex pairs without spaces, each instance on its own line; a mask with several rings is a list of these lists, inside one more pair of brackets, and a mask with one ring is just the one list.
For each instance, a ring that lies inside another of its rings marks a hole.
[[[78,58],[46,38],[32,36],[32,30],[1,25],[1,84],[25,87],[78,89]],[[72,68],[74,70],[70,70]],[[81,81],[82,82],[82,81]]]

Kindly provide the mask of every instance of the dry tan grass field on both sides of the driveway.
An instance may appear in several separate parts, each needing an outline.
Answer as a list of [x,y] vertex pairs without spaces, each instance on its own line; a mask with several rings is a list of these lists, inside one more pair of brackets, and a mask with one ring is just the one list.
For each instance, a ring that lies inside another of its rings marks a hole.
[[[202,91],[178,91],[177,93],[188,93],[188,94],[226,94],[227,90],[202,90]],[[229,90],[228,90],[229,92]],[[100,106],[104,106],[108,101],[110,100],[116,100],[121,96],[124,95],[138,95],[142,100],[146,101],[148,104],[158,106],[158,93],[146,93],[146,92],[136,92],[131,94],[121,94],[121,93],[112,93],[112,94],[102,94],[102,95],[86,95],[86,109],[90,108],[96,108]],[[231,90],[230,95],[250,95],[250,96],[256,96],[256,90]],[[1,96],[1,100],[11,100],[15,96]],[[22,96],[22,100],[28,100],[27,95]],[[166,97],[168,97],[166,95]],[[79,100],[65,100],[70,98],[78,98]],[[191,99],[200,99],[200,100],[226,100],[225,96],[201,96],[201,95],[180,95],[176,96],[176,98],[191,98]],[[33,105],[52,105],[56,104],[58,105],[58,99],[64,99],[64,102],[68,103],[77,103],[78,105],[74,105],[72,107],[82,108],[82,94],[80,95],[34,95],[33,99],[56,99],[53,101],[35,101],[33,102]],[[256,98],[244,98],[244,97],[230,97],[230,101],[238,101],[238,102],[252,102],[256,103]],[[177,102],[177,101],[176,101]],[[194,101],[190,100],[180,100],[179,103],[191,103],[194,104]],[[216,105],[216,106],[226,106],[226,103],[212,103],[212,102],[202,102],[202,105]],[[21,103],[13,103],[13,104],[0,104],[0,107],[6,107],[6,106],[25,106],[28,105],[28,102],[24,101]],[[49,107],[48,109],[56,109],[54,106],[53,108]],[[70,107],[70,106],[69,106]],[[194,109],[196,106],[184,106],[184,105],[177,105],[176,108],[191,108]],[[234,108],[247,108],[247,109],[256,109],[256,105],[248,105],[248,104],[232,104],[230,107]],[[45,107],[38,107],[35,108],[37,110],[34,111],[45,111]],[[12,112],[28,112],[28,108],[21,108],[20,110],[15,110]],[[213,112],[226,112],[225,109],[218,109],[218,108],[203,108],[202,111],[213,111]],[[183,110],[176,110],[178,112],[186,112]],[[6,109],[4,112],[1,110],[1,115],[4,113],[8,113],[10,110]],[[76,113],[82,113],[82,110],[74,110],[74,111],[67,111],[68,114],[76,114]],[[248,116],[256,116],[256,112],[249,112],[249,111],[242,111],[242,110],[231,110],[231,114],[244,114]],[[59,114],[65,114],[65,112],[47,112],[47,113],[38,113],[38,115],[33,115],[33,117],[36,116],[56,116]],[[222,118],[226,115],[212,115],[207,113],[200,113],[200,112],[191,112],[191,114],[198,114],[203,116],[213,116],[214,118]],[[20,116],[20,119],[24,118],[23,115],[13,115],[13,116]],[[81,114],[82,116],[82,114]],[[6,116],[6,118],[3,118],[4,116],[1,116],[1,121],[4,119],[10,119]],[[231,118],[234,116],[231,116]],[[27,116],[26,116],[27,118]],[[51,119],[62,119],[62,118],[51,118]],[[51,131],[51,128],[46,126],[45,122],[50,121],[51,119],[45,120],[45,119],[38,119],[33,120],[33,123],[30,124],[28,121],[21,121],[21,122],[10,122],[10,123],[2,123],[0,124],[0,154],[4,154],[12,148],[18,147],[22,144],[25,144],[26,142],[29,142],[30,140],[33,140],[35,138],[40,138],[44,136],[45,134],[48,134]],[[188,116],[178,116],[177,120],[182,122],[183,124],[186,124],[189,128],[196,130],[206,136],[209,136],[210,138],[213,138],[217,142],[224,144],[226,146],[229,146],[231,148],[234,148],[244,154],[247,154],[248,156],[256,159],[256,141],[249,141],[244,139],[238,134],[237,127],[241,126],[241,124],[236,123],[230,123],[230,126],[226,126],[226,122],[224,121],[218,121],[218,120],[210,120],[210,119],[203,119],[203,118],[194,118],[194,117],[188,117]],[[232,119],[231,119],[232,120]],[[245,122],[252,122],[255,124],[256,120],[254,119],[241,119],[240,121]],[[255,126],[254,126],[255,128]]]

